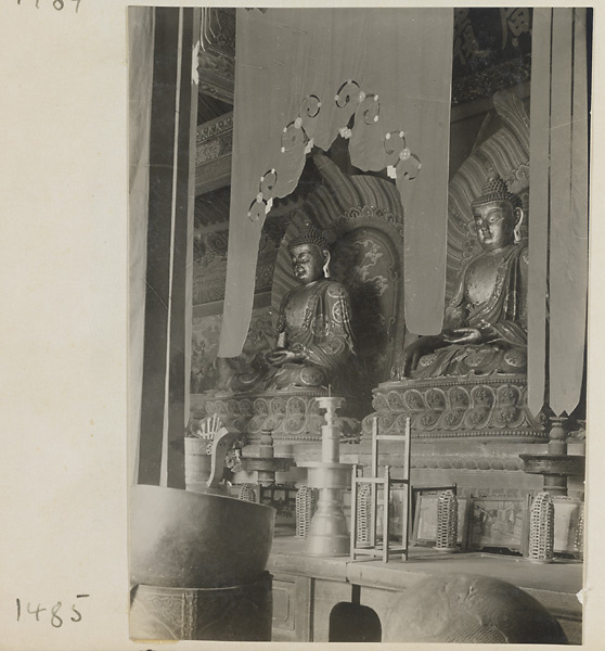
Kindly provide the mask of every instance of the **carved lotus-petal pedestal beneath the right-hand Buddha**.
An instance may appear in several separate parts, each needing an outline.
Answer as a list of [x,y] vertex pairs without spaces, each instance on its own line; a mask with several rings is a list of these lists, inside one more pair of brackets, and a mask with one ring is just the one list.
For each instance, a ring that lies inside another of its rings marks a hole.
[[423,439],[548,441],[527,408],[524,375],[489,375],[384,382],[374,390],[375,413],[363,420],[369,436],[378,417],[381,434],[403,433]]

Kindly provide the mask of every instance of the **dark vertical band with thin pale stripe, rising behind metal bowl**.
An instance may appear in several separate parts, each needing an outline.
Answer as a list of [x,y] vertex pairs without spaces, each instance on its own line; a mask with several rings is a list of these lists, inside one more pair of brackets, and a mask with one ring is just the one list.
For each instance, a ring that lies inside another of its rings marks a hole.
[[184,487],[198,10],[157,8],[139,483]]

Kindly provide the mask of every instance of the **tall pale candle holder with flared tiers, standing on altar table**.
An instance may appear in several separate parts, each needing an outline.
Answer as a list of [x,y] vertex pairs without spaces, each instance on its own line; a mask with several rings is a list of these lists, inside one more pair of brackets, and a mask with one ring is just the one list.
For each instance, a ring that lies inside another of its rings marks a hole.
[[336,410],[345,405],[345,398],[323,396],[316,400],[325,411],[325,425],[321,429],[321,461],[304,464],[308,469],[308,484],[319,488],[318,508],[307,537],[307,553],[346,556],[350,538],[343,511],[343,488],[350,484],[351,467],[339,462],[340,426],[336,421]]

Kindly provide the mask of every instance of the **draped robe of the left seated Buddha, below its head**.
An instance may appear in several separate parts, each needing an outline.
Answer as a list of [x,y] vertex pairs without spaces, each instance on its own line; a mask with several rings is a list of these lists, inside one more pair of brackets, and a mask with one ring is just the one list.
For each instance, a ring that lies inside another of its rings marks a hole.
[[282,299],[276,323],[278,350],[302,354],[302,361],[269,365],[232,379],[235,391],[319,387],[347,392],[357,376],[349,297],[339,282],[320,279],[291,290]]

